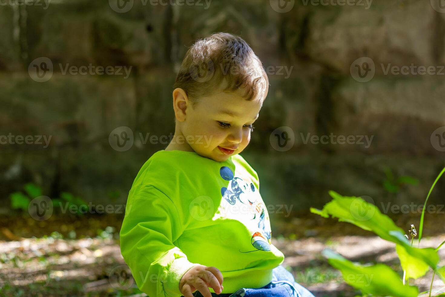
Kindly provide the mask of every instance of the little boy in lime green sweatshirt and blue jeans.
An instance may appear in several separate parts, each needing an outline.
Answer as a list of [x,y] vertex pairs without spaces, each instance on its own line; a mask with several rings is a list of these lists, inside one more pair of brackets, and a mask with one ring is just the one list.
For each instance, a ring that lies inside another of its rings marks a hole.
[[281,266],[258,175],[239,155],[268,85],[241,37],[216,33],[187,51],[174,84],[174,137],[136,176],[120,232],[148,296],[313,297]]

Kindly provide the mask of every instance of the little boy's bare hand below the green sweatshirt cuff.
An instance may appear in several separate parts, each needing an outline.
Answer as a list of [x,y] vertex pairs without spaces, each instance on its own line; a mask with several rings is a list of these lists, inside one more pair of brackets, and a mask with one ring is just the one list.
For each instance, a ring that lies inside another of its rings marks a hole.
[[209,288],[218,295],[223,290],[223,274],[213,266],[196,265],[190,268],[179,282],[179,290],[184,297],[193,297],[193,292],[198,289],[204,297],[212,297]]

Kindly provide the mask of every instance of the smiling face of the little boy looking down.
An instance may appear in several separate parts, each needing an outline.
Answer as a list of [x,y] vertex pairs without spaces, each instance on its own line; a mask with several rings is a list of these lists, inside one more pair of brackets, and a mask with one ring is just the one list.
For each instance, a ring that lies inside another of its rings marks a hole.
[[225,161],[249,144],[261,106],[259,98],[247,101],[239,93],[218,92],[199,98],[194,108],[187,106],[182,134],[186,139],[193,136],[188,139],[194,141],[187,142],[199,155]]

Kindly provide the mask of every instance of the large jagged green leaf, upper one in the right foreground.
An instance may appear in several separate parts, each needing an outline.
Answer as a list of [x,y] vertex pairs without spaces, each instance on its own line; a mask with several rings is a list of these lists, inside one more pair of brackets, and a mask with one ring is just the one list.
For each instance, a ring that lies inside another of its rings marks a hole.
[[311,208],[311,212],[320,216],[331,215],[342,222],[354,224],[364,230],[376,233],[380,238],[394,242],[406,250],[410,256],[421,259],[433,269],[439,262],[437,251],[433,248],[413,248],[405,232],[388,216],[382,214],[380,209],[372,203],[366,202],[360,197],[342,196],[334,191],[329,191],[333,200],[324,205],[322,210]]

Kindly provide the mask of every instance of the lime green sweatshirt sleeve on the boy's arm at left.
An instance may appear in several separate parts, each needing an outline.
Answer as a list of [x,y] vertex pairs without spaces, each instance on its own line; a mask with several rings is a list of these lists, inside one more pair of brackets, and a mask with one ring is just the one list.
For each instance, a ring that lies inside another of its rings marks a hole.
[[176,247],[182,234],[172,200],[152,186],[128,196],[120,232],[121,253],[138,288],[150,297],[180,297],[179,281],[195,265]]

